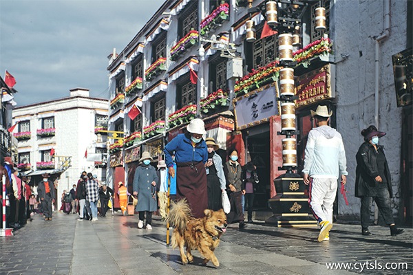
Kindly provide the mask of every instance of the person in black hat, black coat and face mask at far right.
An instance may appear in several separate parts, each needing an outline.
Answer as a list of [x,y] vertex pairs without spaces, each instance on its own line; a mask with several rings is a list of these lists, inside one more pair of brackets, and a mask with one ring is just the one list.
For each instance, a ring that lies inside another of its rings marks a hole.
[[370,223],[370,208],[374,200],[383,219],[390,226],[390,234],[396,236],[403,233],[403,229],[396,228],[393,211],[390,208],[390,197],[393,197],[392,176],[384,155],[383,146],[379,145],[379,138],[385,135],[370,125],[361,131],[364,142],[357,152],[355,195],[361,199],[360,217],[361,234],[371,235],[368,230]]

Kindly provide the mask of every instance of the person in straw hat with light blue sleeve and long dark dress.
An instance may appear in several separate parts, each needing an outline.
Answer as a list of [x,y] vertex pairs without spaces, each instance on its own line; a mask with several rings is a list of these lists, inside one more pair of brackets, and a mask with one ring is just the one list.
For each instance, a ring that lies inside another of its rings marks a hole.
[[222,158],[216,153],[220,146],[215,143],[213,137],[207,137],[208,162],[207,168],[208,182],[208,209],[218,211],[222,208],[222,192],[226,192],[226,180]]

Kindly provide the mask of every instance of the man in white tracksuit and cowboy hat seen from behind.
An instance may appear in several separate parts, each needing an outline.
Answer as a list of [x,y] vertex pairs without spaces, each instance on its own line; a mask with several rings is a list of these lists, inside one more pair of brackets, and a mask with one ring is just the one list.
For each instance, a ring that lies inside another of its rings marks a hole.
[[327,106],[311,110],[316,128],[308,133],[304,158],[304,184],[310,184],[308,202],[321,225],[318,241],[330,239],[332,204],[337,193],[337,179],[346,184],[346,151],[339,132],[328,126],[332,111]]

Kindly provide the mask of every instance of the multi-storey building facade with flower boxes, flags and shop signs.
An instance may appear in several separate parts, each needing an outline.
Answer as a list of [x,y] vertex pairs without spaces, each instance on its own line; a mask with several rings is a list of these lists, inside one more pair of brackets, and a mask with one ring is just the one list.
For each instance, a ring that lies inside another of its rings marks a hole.
[[[310,110],[326,104],[333,112],[331,126],[343,136],[349,171],[350,204],[346,206],[339,197],[335,214],[356,217],[360,201],[354,197],[355,155],[363,142],[360,132],[377,124],[388,132],[383,144],[395,149],[389,152],[393,187],[399,194],[393,199],[394,215],[411,221],[412,199],[401,195],[412,191],[412,176],[401,167],[402,162],[412,163],[411,153],[401,154],[403,144],[409,144],[409,138],[411,142],[412,126],[407,124],[411,101],[401,107],[396,104],[391,60],[412,47],[405,23],[407,1],[392,5],[383,1],[374,8],[369,1],[303,2],[301,28],[293,31],[297,100],[290,126],[297,130],[297,173],[304,166],[306,138],[313,127]],[[236,148],[242,165],[254,162],[260,177],[254,208],[268,209],[268,200],[277,195],[273,179],[285,173],[279,169],[285,138],[279,131],[282,107],[291,106],[281,106],[277,100],[282,68],[279,34],[268,34],[264,14],[248,10],[249,4],[261,7],[266,1],[165,1],[127,47],[109,55],[109,130],[123,132],[124,137],[109,146],[107,179],[115,189],[118,181],[125,181],[130,192],[142,151],[149,151],[155,163],[163,159],[165,144],[198,117],[205,122],[207,137],[220,145],[218,153],[224,161],[229,149]],[[315,24],[320,5],[326,15],[323,31]],[[252,22],[253,28],[248,25]],[[388,37],[383,41],[372,39],[385,33]],[[396,41],[396,46],[390,41]],[[379,80],[368,69],[374,72],[376,43],[381,54]],[[374,91],[377,81],[379,91]],[[379,110],[374,110],[374,98]]]

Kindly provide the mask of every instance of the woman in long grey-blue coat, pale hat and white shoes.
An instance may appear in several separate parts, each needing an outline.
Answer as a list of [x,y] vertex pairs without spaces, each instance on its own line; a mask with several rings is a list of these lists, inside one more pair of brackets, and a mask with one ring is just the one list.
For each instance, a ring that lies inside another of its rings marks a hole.
[[152,212],[158,209],[156,201],[156,184],[158,175],[155,167],[151,166],[153,159],[149,152],[143,152],[139,159],[140,165],[135,170],[134,195],[138,195],[138,205],[136,211],[139,212],[138,228],[143,228],[143,221],[146,212],[146,229],[152,229]]

